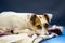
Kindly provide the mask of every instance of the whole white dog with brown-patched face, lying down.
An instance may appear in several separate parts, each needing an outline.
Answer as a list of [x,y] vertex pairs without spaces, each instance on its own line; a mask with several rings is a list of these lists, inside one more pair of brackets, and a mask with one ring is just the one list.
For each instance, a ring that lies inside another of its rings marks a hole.
[[[0,13],[0,32],[10,30],[13,34],[49,34],[47,27],[52,19],[52,14],[37,15],[35,13]],[[2,28],[1,27],[5,27]]]

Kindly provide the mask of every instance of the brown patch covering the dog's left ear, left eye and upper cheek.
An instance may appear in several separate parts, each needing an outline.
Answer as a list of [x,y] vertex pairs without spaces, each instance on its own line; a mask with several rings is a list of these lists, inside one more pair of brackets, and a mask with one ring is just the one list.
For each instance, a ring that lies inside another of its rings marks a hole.
[[32,15],[30,17],[30,23],[32,24],[31,26],[32,26],[34,30],[42,28],[40,18],[37,15]]

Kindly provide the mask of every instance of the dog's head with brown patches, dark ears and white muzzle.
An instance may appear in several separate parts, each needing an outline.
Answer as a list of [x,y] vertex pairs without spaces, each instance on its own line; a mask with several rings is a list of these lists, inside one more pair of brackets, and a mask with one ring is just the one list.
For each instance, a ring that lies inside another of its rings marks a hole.
[[30,26],[31,29],[38,34],[48,34],[48,25],[52,19],[52,14],[31,15]]

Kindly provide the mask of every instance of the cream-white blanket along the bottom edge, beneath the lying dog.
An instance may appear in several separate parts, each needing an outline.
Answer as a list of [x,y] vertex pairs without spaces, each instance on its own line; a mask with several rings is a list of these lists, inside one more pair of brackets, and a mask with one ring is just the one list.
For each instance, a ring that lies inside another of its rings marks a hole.
[[12,35],[4,35],[0,38],[0,43],[38,43],[41,40],[50,39],[52,38],[53,34],[51,35],[39,35],[37,37],[34,34],[31,38],[28,37],[27,33],[22,33],[22,34],[12,34]]

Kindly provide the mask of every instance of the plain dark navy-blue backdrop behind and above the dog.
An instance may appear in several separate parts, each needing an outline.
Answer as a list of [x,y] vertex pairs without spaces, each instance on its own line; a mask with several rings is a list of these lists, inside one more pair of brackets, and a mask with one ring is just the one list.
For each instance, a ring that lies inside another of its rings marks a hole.
[[51,25],[65,26],[65,0],[0,0],[0,12],[52,13]]

